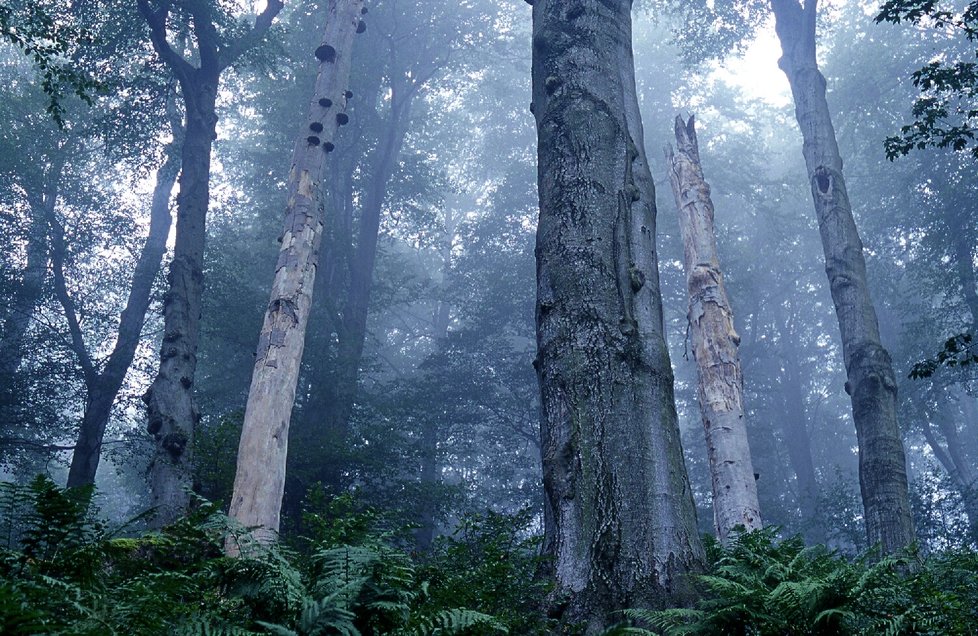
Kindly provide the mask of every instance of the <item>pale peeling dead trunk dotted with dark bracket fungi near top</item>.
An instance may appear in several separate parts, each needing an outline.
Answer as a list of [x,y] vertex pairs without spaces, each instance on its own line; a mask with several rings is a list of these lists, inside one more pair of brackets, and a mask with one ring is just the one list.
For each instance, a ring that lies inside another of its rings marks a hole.
[[258,541],[273,540],[279,529],[289,421],[323,233],[320,181],[325,154],[333,149],[337,118],[346,117],[353,36],[362,7],[363,0],[328,4],[326,30],[316,50],[319,74],[292,155],[282,248],[258,340],[231,497],[231,517],[244,526],[258,526],[253,533]]

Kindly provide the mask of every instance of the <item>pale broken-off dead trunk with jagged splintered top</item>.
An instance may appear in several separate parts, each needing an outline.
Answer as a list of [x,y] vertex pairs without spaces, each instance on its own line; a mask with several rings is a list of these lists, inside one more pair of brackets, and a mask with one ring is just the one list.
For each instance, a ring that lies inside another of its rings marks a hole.
[[679,210],[693,357],[699,369],[700,414],[713,486],[713,522],[726,543],[737,526],[761,527],[757,481],[744,419],[744,376],[733,309],[723,286],[710,186],[703,176],[694,120],[676,117],[676,151],[668,149],[669,181]]

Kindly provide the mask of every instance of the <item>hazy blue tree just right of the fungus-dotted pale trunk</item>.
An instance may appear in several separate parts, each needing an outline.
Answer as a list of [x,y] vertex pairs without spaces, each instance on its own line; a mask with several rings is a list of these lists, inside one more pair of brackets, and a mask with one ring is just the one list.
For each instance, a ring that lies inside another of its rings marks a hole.
[[[316,430],[327,453],[342,452],[350,443],[381,227],[390,208],[398,205],[390,197],[404,172],[405,141],[426,123],[416,118],[416,111],[436,77],[444,82],[464,77],[467,59],[488,47],[481,25],[492,22],[500,10],[473,3],[405,2],[389,3],[371,14],[371,29],[363,40],[371,54],[364,56],[368,59],[355,90],[354,110],[362,113],[359,128],[351,126],[345,135],[349,143],[337,153],[326,203],[322,331],[336,337],[321,354],[331,354],[327,378],[313,380],[311,399],[297,422],[297,427]],[[320,480],[337,489],[342,472],[341,462],[330,462],[322,467]]]

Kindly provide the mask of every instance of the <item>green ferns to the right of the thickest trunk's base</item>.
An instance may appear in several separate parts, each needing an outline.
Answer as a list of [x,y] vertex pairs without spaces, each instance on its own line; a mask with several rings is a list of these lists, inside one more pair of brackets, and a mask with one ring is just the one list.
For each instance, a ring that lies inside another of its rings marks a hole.
[[776,533],[765,529],[726,548],[710,546],[712,567],[697,577],[702,597],[694,608],[625,616],[669,635],[973,633],[973,553],[850,561],[824,546],[805,547],[800,537],[778,542]]

